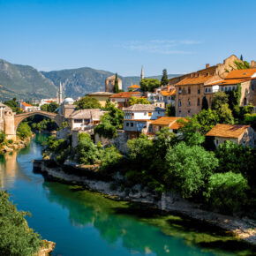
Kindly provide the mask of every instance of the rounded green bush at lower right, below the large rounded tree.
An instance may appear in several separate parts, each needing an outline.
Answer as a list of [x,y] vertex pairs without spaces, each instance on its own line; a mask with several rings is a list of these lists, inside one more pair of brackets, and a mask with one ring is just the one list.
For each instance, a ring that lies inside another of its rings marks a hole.
[[249,186],[240,173],[215,173],[209,177],[207,201],[222,213],[240,211],[246,204]]

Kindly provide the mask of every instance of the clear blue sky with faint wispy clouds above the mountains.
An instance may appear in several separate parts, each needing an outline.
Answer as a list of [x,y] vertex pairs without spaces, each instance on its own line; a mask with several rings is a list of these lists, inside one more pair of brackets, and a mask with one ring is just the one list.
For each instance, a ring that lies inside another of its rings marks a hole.
[[256,59],[256,0],[0,0],[0,58],[40,71],[185,73]]

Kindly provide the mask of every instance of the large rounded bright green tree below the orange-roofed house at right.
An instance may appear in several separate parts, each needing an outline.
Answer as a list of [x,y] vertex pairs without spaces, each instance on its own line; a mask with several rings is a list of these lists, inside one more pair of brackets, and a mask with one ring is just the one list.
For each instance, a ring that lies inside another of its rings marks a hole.
[[184,142],[169,147],[166,162],[168,172],[165,182],[170,188],[181,192],[184,198],[199,194],[205,187],[207,178],[218,166],[214,154],[200,146],[187,146]]

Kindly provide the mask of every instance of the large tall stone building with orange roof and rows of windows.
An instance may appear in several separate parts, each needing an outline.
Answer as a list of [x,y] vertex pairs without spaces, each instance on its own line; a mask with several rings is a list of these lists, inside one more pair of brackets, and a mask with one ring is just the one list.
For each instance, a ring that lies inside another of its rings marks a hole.
[[[208,105],[211,106],[215,92],[219,86],[234,69],[234,61],[240,61],[237,56],[230,56],[223,64],[210,66],[198,72],[186,74],[181,78],[170,79],[169,83],[176,87],[176,116],[192,117],[200,112],[202,100],[206,97]],[[174,82],[175,81],[175,82]]]

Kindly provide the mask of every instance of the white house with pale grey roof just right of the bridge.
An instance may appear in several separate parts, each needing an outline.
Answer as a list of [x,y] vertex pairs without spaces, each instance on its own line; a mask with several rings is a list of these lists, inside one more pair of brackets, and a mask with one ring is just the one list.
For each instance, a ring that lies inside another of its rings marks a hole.
[[100,124],[101,117],[107,113],[102,109],[79,109],[75,110],[69,117],[71,130],[90,131],[94,126]]

